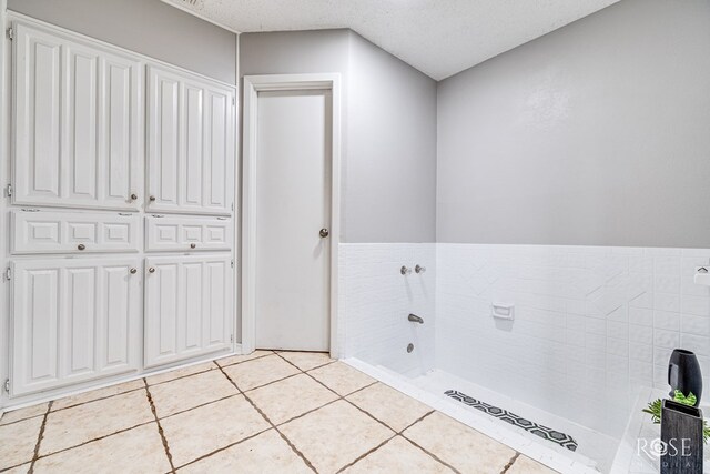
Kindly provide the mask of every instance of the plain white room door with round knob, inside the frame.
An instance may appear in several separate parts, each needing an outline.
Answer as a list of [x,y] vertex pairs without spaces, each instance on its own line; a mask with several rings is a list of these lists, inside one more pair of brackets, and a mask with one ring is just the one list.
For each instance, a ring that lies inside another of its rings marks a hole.
[[329,350],[331,114],[331,91],[258,93],[258,349]]

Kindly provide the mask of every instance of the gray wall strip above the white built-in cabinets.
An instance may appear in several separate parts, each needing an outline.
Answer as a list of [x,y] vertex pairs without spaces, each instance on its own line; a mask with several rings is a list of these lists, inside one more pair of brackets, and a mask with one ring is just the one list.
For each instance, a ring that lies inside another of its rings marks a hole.
[[8,8],[236,83],[236,34],[160,0],[8,0]]

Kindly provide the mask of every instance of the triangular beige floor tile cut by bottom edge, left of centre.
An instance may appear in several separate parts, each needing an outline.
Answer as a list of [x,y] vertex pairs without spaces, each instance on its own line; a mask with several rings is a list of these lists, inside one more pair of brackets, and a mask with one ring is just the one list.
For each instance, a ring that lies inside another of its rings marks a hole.
[[248,472],[250,474],[313,473],[275,430],[270,430],[227,450],[220,451],[178,472],[181,474],[227,474],[237,472]]

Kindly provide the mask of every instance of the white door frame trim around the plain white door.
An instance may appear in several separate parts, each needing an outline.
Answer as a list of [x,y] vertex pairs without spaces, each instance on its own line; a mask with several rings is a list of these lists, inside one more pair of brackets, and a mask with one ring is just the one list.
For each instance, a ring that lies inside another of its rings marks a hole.
[[256,341],[256,127],[258,92],[329,90],[333,94],[331,152],[331,356],[337,345],[337,256],[341,242],[341,74],[271,74],[244,77],[242,185],[242,352]]

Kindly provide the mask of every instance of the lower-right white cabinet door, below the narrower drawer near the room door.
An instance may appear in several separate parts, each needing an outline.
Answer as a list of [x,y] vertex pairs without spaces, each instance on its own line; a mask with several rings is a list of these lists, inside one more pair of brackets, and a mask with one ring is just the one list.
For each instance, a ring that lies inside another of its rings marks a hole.
[[233,294],[230,255],[145,259],[144,366],[230,349]]

